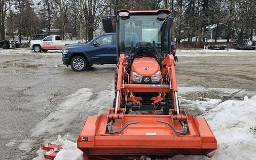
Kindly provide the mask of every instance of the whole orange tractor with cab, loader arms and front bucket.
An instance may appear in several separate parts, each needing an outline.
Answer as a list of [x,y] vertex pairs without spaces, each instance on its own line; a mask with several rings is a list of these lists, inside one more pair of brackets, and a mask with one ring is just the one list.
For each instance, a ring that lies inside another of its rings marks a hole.
[[[169,10],[119,10],[117,15],[114,107],[85,119],[77,141],[85,159],[215,150],[217,141],[205,118],[179,108]],[[102,22],[112,31],[110,19]]]

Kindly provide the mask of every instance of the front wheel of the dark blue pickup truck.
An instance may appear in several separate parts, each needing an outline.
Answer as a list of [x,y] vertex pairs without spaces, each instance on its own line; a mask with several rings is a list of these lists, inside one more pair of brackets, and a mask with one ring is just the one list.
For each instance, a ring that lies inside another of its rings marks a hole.
[[71,59],[70,66],[74,71],[80,72],[86,70],[89,64],[84,57],[76,56]]

